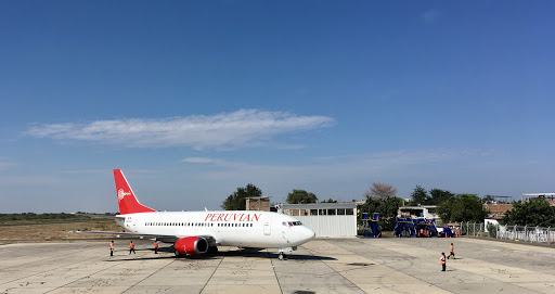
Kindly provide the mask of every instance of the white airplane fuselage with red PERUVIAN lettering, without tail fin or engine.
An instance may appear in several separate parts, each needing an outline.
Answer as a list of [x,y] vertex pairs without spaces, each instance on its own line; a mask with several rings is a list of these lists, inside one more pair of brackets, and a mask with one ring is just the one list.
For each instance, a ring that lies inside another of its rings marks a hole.
[[314,232],[287,215],[254,212],[156,212],[121,215],[118,225],[141,234],[211,237],[217,245],[240,247],[295,247]]

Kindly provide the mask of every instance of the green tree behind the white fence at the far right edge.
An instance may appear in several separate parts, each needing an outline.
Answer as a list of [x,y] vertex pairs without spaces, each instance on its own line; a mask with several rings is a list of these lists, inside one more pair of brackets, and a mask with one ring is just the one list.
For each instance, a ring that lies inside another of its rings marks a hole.
[[518,226],[555,226],[555,206],[545,199],[531,199],[528,202],[514,202],[513,209],[503,217],[503,222]]

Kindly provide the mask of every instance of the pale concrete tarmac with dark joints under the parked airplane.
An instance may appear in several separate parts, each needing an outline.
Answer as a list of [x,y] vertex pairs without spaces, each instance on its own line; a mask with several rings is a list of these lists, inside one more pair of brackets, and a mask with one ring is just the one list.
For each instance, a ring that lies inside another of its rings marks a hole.
[[[315,239],[274,251],[175,258],[152,241],[0,246],[0,293],[555,293],[555,248],[469,238]],[[441,271],[441,252],[456,259]]]

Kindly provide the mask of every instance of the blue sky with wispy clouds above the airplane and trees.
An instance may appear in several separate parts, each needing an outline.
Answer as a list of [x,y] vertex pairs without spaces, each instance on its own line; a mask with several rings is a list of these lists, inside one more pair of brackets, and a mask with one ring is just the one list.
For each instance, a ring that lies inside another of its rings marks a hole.
[[0,213],[555,192],[553,1],[0,3]]

